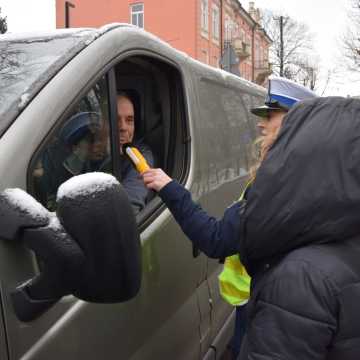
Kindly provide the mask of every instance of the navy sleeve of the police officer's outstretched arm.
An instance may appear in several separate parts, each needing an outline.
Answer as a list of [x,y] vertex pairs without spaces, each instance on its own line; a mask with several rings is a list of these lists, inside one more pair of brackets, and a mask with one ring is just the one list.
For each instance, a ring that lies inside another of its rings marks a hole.
[[159,195],[186,236],[207,256],[220,259],[239,252],[241,202],[227,208],[217,220],[195,204],[190,192],[176,181]]

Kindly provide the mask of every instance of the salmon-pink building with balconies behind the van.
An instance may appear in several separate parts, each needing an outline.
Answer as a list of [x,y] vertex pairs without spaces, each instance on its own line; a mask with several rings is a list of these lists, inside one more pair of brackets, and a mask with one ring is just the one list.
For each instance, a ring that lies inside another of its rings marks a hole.
[[264,84],[271,39],[254,2],[248,10],[238,0],[56,0],[56,26],[132,23],[199,61]]

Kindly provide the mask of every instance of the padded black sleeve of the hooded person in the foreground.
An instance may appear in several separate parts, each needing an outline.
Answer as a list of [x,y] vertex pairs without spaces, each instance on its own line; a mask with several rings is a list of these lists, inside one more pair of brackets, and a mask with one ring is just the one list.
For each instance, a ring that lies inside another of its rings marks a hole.
[[276,272],[260,291],[255,280],[240,359],[325,360],[337,324],[334,287],[305,261]]

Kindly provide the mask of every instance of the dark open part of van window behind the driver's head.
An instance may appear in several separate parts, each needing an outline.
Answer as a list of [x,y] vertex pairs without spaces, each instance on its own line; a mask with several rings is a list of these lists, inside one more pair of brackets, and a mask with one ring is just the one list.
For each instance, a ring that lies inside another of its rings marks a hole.
[[[134,105],[135,144],[150,149],[154,167],[184,181],[189,136],[179,71],[149,56],[128,57],[114,70],[117,94],[128,94]],[[148,202],[154,195],[150,194]]]

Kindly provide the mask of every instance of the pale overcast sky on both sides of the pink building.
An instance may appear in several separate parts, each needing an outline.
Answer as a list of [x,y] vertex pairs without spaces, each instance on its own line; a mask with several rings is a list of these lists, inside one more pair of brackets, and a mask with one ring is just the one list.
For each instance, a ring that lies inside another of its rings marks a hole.
[[[180,1],[180,0],[168,0]],[[248,0],[240,1],[248,9]],[[339,38],[346,28],[346,7],[349,0],[256,0],[255,6],[287,13],[295,20],[308,24],[314,34],[315,49],[320,56],[322,83],[328,70],[338,66]],[[8,18],[10,32],[55,29],[55,0],[0,0],[2,14]],[[350,81],[351,79],[351,81]],[[354,76],[333,77],[325,95],[360,95],[360,82]]]

